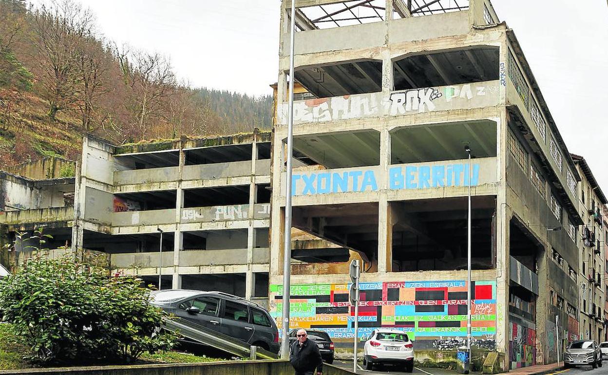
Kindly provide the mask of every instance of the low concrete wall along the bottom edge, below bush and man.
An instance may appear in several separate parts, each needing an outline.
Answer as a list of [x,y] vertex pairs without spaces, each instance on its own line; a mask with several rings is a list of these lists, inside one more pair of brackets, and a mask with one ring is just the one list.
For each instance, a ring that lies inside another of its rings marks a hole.
[[[179,365],[157,363],[154,365],[33,368],[0,371],[1,375],[292,375],[293,373],[294,369],[288,360],[239,360]],[[343,368],[324,364],[323,374],[343,375],[353,373]]]

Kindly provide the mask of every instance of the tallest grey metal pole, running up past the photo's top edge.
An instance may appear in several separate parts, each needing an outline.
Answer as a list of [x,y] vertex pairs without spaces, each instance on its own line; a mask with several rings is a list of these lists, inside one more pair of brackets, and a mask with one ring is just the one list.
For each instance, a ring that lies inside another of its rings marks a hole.
[[[283,335],[281,358],[289,358],[289,298],[291,298],[291,159],[294,138],[294,41],[295,0],[291,0],[291,43],[289,43],[289,108],[287,123],[287,178],[285,181],[285,243],[283,244]],[[281,100],[281,98],[278,98]]]

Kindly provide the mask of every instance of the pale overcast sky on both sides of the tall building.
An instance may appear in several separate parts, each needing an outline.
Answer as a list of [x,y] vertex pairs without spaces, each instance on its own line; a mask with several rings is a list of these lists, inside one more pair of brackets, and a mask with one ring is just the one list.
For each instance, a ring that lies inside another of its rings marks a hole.
[[[178,76],[193,86],[272,94],[279,0],[80,1],[108,39],[170,56]],[[570,152],[587,159],[608,195],[606,1],[492,4],[515,30]]]

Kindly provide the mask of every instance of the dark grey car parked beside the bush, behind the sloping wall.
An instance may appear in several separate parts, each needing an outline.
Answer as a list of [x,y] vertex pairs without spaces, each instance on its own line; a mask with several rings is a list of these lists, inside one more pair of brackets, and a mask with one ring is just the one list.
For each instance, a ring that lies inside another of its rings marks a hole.
[[278,329],[257,303],[223,292],[170,289],[151,292],[151,303],[176,317],[278,353]]

